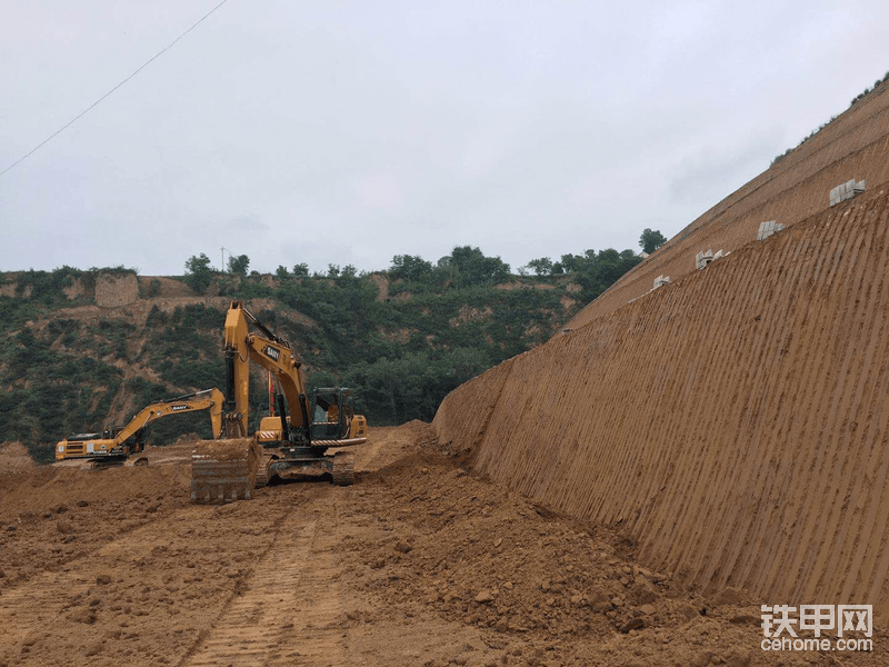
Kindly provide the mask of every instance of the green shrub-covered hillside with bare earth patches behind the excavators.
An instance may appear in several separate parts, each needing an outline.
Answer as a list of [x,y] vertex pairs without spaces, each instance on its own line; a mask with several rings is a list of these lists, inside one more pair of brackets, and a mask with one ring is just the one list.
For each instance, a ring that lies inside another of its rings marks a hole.
[[[222,272],[204,255],[170,278],[122,267],[4,273],[0,440],[46,462],[68,435],[122,426],[154,400],[223,388],[231,299],[291,341],[310,387],[353,387],[371,425],[431,420],[449,391],[550,338],[639,261],[631,250],[588,250],[513,273],[461,247],[436,263],[396,256],[387,270],[361,275],[348,266],[310,275],[306,265],[261,275],[248,272],[246,256]],[[258,419],[268,414],[264,371],[252,380]],[[151,431],[154,445],[211,435],[206,414],[159,420]]]

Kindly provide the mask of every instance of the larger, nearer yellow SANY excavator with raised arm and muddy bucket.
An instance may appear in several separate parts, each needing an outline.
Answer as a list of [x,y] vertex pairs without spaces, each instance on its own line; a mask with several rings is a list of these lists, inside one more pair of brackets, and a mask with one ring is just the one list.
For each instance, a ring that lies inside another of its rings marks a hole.
[[[290,344],[272,334],[241,301],[226,316],[224,438],[199,442],[191,459],[192,502],[250,499],[271,478],[329,475],[354,479],[354,454],[333,451],[367,442],[367,420],[354,414],[350,389],[306,390],[302,364]],[[250,364],[274,378],[278,415],[248,432]],[[331,454],[332,451],[332,454]]]

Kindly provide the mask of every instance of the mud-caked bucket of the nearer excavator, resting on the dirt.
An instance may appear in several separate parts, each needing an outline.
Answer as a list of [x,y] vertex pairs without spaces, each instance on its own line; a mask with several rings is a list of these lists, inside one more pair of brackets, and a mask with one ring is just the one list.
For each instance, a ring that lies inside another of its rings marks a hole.
[[250,500],[262,449],[252,438],[201,440],[191,455],[191,501]]

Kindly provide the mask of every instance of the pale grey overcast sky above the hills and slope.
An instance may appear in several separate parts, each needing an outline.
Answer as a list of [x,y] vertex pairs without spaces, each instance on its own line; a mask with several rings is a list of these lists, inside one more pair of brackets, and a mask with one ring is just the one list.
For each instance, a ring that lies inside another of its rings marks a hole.
[[[0,0],[0,171],[218,2]],[[638,250],[882,77],[887,26],[886,0],[228,0],[0,177],[0,270]]]

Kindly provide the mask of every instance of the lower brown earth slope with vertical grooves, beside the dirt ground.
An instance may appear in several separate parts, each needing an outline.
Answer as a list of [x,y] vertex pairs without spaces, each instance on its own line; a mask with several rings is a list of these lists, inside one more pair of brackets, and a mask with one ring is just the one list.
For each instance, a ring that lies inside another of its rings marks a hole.
[[885,620],[888,255],[871,189],[491,369],[433,426],[689,585]]

